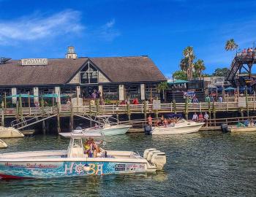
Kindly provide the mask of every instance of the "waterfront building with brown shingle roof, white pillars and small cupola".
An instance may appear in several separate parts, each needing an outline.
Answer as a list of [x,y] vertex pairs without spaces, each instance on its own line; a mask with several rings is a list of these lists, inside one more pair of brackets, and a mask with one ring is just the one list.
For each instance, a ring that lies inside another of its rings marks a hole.
[[[150,99],[165,76],[146,55],[110,58],[78,58],[68,47],[66,58],[9,60],[0,64],[0,96],[57,93],[90,99],[99,90],[103,99]],[[15,104],[17,98],[9,101]],[[31,99],[31,103],[39,97]]]

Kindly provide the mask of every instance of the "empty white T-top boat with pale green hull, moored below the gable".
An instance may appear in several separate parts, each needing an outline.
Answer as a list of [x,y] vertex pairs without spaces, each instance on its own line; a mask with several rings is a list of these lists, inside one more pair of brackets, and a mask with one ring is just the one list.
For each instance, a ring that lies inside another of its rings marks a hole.
[[[59,135],[64,137],[71,136],[113,136],[126,134],[131,125],[118,124],[110,121],[109,119],[113,118],[111,115],[97,115],[95,119],[89,117],[89,120],[95,123],[94,127],[91,128],[81,128],[80,126],[75,128],[70,133],[59,133]],[[115,119],[115,118],[113,118]]]

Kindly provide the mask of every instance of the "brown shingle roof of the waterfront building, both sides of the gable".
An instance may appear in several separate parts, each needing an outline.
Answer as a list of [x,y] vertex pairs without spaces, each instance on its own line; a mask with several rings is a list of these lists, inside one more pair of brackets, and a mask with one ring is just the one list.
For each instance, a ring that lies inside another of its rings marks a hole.
[[91,60],[111,82],[163,81],[164,75],[150,58],[48,59],[47,66],[21,66],[20,61],[0,64],[0,86],[61,85],[67,83],[83,63]]

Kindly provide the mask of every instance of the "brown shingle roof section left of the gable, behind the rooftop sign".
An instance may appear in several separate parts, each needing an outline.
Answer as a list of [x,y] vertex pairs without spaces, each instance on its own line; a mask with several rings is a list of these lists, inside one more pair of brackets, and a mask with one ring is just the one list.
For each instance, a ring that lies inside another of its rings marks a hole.
[[0,64],[0,85],[64,84],[87,61],[79,59],[48,59],[47,66],[21,66],[20,61]]

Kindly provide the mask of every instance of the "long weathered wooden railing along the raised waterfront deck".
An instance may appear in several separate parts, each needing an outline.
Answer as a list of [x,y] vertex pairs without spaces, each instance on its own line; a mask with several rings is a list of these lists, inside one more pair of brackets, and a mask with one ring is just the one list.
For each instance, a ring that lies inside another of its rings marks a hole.
[[[255,110],[256,103],[255,101],[248,101],[248,109],[249,110]],[[247,107],[244,107],[244,110],[246,110]],[[238,102],[200,102],[196,104],[189,103],[187,104],[186,109],[186,103],[167,103],[167,104],[160,104],[160,108],[157,109],[157,112],[208,112],[209,110],[216,112],[233,112],[238,111],[241,109],[239,107]],[[22,115],[42,115],[42,114],[56,114],[58,113],[57,107],[22,107],[22,109],[17,108],[5,108],[4,109],[4,116],[19,116],[22,112]],[[60,115],[70,115],[71,113],[79,113],[79,114],[105,114],[105,115],[114,115],[114,114],[143,114],[143,113],[154,113],[156,110],[154,110],[152,104],[145,105],[144,104],[121,104],[121,105],[92,105],[92,106],[74,106],[71,107],[70,105],[60,105],[59,107],[59,114]]]

